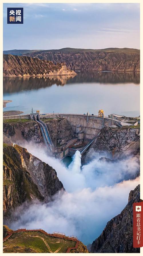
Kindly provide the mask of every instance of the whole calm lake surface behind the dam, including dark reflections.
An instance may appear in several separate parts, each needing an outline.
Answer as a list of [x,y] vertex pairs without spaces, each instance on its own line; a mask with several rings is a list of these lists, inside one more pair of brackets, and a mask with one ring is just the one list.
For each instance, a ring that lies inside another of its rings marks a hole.
[[12,100],[3,111],[25,114],[116,113],[140,115],[140,73],[77,72],[75,77],[4,78],[3,99]]

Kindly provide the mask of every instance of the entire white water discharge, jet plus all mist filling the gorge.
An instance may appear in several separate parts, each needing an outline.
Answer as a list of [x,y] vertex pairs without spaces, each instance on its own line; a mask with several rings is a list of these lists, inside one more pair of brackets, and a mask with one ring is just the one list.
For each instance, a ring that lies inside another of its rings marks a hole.
[[[81,155],[76,151],[69,167],[46,155],[37,145],[24,145],[27,150],[55,168],[66,191],[54,196],[47,204],[32,204],[26,212],[24,205],[17,209],[19,219],[10,224],[18,227],[42,228],[52,233],[75,235],[84,243],[92,243],[106,223],[119,214],[128,203],[128,195],[139,183],[139,178],[128,179],[139,168],[136,157],[117,162],[98,158],[81,168]],[[36,150],[35,150],[36,148]]]

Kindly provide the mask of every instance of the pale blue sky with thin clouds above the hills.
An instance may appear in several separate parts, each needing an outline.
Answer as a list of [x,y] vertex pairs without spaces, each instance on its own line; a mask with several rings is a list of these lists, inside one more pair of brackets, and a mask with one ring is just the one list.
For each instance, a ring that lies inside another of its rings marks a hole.
[[[23,7],[23,24],[7,24]],[[4,3],[3,50],[140,49],[139,3]]]

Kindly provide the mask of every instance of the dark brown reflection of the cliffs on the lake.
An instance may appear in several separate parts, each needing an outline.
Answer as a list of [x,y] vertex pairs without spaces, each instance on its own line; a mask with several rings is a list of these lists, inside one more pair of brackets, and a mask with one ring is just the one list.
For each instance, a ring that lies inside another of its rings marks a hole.
[[140,72],[87,72],[77,71],[77,75],[49,76],[49,77],[25,77],[25,78],[3,78],[3,93],[20,92],[23,90],[37,90],[56,84],[64,86],[74,83],[102,83],[122,84],[140,83]]

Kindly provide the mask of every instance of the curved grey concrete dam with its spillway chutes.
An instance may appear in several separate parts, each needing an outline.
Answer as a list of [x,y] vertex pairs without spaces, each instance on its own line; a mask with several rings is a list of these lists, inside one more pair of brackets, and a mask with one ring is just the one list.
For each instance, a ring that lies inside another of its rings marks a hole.
[[[4,119],[15,119],[19,118],[19,116],[8,116],[4,117]],[[73,156],[76,150],[81,152],[83,155],[94,143],[98,132],[104,126],[126,126],[130,125],[125,122],[121,122],[120,120],[115,120],[110,117],[97,116],[87,114],[62,114],[62,113],[44,113],[39,114],[31,113],[28,115],[21,115],[21,119],[34,119],[41,130],[41,134],[43,136],[43,141],[45,146],[47,147],[48,153],[50,155],[55,156],[56,158],[63,159],[65,156]],[[44,119],[47,118],[66,118],[72,130],[75,134],[75,137],[69,141],[62,141],[62,145],[60,147],[54,147],[51,141],[51,137],[47,128],[47,125],[43,122]],[[42,121],[43,120],[43,121]]]

